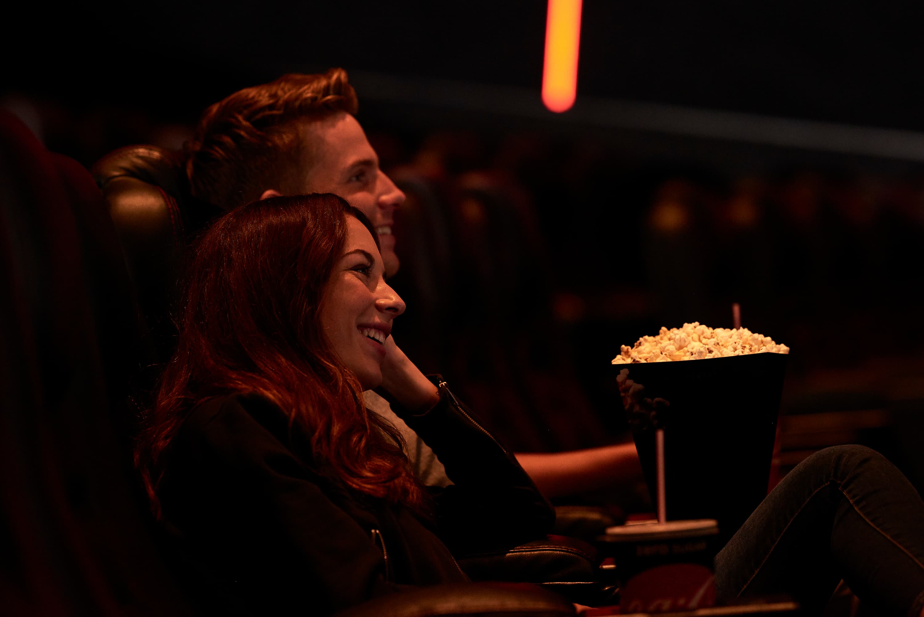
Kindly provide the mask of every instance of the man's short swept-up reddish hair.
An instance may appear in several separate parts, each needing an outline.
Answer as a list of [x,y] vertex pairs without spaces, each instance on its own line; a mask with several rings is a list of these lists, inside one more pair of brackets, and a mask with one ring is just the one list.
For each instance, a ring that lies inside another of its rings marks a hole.
[[231,94],[202,114],[186,144],[186,173],[197,199],[225,210],[260,199],[262,191],[304,191],[306,122],[358,103],[343,68],[284,75]]

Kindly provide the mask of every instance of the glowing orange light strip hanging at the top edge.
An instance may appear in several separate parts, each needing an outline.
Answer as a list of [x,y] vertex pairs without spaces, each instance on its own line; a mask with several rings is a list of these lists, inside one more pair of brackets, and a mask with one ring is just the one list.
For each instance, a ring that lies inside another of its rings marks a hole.
[[549,0],[545,23],[542,103],[561,113],[575,104],[581,0]]

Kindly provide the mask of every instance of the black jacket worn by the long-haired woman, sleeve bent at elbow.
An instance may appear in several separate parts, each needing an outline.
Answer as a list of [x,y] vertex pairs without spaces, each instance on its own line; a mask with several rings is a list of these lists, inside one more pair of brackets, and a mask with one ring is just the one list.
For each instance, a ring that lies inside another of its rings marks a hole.
[[549,532],[552,507],[444,384],[429,412],[395,413],[455,483],[433,495],[432,520],[324,477],[304,432],[259,396],[193,411],[161,501],[196,574],[223,589],[223,611],[239,602],[242,612],[328,614],[401,586],[465,581],[447,546],[505,549]]

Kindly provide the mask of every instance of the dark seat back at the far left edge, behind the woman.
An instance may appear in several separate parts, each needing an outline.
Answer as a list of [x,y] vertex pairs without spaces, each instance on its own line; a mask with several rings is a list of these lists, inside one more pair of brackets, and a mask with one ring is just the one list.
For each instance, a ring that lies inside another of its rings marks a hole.
[[116,381],[137,322],[102,208],[85,170],[0,112],[6,614],[189,614],[130,467]]

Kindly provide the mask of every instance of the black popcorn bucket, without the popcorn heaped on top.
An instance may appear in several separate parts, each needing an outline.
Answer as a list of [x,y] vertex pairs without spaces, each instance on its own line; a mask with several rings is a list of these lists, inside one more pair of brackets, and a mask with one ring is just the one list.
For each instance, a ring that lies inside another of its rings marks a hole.
[[715,519],[723,544],[767,494],[786,355],[614,364],[652,501],[664,428],[667,519]]

